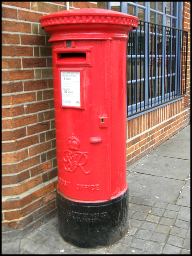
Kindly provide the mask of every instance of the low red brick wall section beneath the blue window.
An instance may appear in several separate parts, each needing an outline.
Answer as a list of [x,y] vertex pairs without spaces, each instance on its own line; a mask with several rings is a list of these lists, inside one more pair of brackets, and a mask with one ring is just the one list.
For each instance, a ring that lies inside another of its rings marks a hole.
[[127,121],[127,168],[189,122],[184,99]]

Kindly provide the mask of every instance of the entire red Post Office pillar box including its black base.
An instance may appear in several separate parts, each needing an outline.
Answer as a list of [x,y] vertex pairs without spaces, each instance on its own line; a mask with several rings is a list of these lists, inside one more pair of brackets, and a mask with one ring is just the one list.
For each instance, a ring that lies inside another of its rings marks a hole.
[[138,20],[94,8],[40,18],[53,55],[59,232],[80,247],[127,232],[126,53]]

